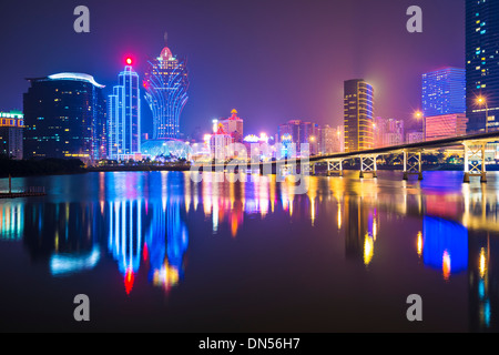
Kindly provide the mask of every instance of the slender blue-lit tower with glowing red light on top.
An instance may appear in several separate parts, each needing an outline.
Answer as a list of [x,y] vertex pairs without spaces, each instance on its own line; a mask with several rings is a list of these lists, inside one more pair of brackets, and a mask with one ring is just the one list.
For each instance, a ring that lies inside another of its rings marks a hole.
[[119,85],[108,102],[109,158],[128,159],[141,152],[141,97],[139,75],[126,59]]

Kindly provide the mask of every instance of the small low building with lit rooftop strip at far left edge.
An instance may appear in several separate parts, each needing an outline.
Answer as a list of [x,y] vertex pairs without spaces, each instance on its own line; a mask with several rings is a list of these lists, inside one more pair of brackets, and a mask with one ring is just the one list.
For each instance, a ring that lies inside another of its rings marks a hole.
[[20,111],[0,112],[0,155],[22,159],[24,115]]

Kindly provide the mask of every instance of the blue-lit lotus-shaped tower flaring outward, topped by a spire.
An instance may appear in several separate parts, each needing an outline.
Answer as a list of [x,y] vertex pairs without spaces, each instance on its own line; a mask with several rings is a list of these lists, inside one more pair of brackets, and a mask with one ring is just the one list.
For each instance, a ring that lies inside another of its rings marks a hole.
[[145,71],[145,99],[153,113],[153,139],[179,139],[180,115],[187,102],[186,58],[177,58],[165,47]]

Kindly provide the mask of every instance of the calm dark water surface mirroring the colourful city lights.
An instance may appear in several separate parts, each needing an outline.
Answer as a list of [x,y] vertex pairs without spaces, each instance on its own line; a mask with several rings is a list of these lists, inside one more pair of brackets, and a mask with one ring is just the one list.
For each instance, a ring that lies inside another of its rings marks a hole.
[[48,195],[0,200],[0,331],[499,331],[499,175],[356,176],[14,179]]

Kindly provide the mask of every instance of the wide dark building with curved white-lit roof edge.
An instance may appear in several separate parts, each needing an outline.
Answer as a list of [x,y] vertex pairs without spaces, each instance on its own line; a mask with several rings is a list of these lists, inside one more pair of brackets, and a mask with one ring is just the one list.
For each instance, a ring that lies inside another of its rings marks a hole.
[[82,73],[28,79],[24,93],[24,156],[106,156],[104,85]]

